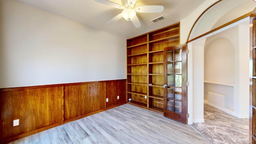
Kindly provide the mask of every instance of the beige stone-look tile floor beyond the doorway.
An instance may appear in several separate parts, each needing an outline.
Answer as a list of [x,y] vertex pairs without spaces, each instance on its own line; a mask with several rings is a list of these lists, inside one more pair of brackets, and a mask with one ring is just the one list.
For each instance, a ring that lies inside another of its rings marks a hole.
[[213,144],[248,144],[249,119],[236,118],[204,104],[204,123],[192,125]]

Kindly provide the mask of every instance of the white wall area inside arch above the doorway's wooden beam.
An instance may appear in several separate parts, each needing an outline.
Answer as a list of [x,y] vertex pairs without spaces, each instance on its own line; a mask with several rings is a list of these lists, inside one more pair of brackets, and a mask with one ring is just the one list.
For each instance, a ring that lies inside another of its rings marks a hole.
[[[253,0],[222,0],[218,2],[218,4],[210,8],[198,20],[198,23],[195,24],[195,28],[190,35],[190,40],[209,32],[213,28],[216,28],[216,26],[220,26],[219,24],[226,24],[235,18],[251,12],[255,6],[256,3]],[[229,14],[232,14],[232,16]]]

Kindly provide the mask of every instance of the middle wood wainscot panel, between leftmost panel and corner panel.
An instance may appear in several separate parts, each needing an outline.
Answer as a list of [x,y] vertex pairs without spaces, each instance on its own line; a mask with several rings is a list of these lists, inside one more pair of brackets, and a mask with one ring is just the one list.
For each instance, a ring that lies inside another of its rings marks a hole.
[[64,120],[105,108],[106,83],[64,87]]

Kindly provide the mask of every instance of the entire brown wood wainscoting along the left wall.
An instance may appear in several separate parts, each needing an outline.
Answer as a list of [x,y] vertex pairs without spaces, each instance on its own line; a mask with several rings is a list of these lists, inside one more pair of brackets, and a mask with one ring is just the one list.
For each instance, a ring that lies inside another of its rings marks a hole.
[[[125,79],[2,88],[0,143],[108,110],[125,104],[126,99]],[[19,125],[13,126],[16,119]]]

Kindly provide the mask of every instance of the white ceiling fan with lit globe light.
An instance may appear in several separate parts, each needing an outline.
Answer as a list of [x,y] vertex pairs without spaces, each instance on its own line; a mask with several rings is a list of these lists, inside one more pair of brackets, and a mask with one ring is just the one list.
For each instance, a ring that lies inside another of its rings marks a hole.
[[132,21],[134,26],[136,28],[139,28],[141,26],[140,20],[136,16],[136,12],[141,13],[156,13],[156,12],[162,12],[164,10],[164,6],[138,6],[135,7],[135,4],[137,0],[122,0],[122,5],[117,4],[115,2],[111,2],[110,0],[95,0],[96,2],[112,6],[114,8],[123,9],[122,13],[118,14],[114,18],[112,18],[110,21],[108,21],[108,24],[112,24],[121,18],[124,18],[125,20]]

